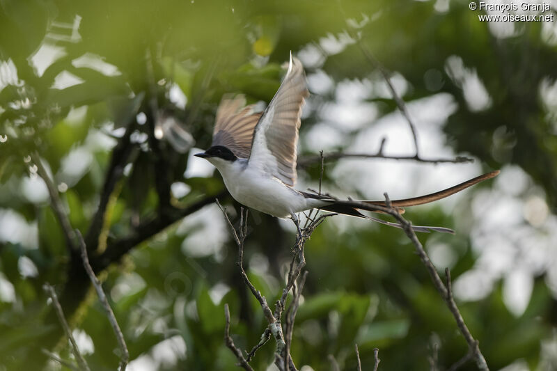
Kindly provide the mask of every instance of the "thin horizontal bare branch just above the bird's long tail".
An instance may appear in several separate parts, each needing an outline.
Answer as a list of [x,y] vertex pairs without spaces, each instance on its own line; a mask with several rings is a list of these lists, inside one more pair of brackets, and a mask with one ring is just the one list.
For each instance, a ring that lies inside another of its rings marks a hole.
[[[383,143],[383,142],[382,142]],[[464,156],[457,156],[455,158],[431,158],[431,159],[424,159],[422,157],[416,156],[389,156],[383,154],[383,148],[379,148],[376,153],[344,153],[344,152],[330,152],[326,153],[321,157],[320,155],[311,155],[311,156],[304,156],[298,159],[298,166],[303,168],[309,166],[311,164],[315,164],[316,162],[322,161],[322,158],[325,161],[334,161],[343,158],[361,158],[361,159],[394,159],[400,161],[417,161],[423,162],[427,164],[464,164],[467,162],[473,162],[474,159],[470,157]]]

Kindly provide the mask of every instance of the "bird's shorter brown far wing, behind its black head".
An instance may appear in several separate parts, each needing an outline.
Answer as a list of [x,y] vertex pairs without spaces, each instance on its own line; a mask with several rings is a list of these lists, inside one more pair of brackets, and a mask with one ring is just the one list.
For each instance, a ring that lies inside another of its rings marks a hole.
[[245,106],[244,95],[225,96],[217,109],[211,145],[223,145],[240,158],[249,158],[253,129],[261,113],[253,113],[253,104]]

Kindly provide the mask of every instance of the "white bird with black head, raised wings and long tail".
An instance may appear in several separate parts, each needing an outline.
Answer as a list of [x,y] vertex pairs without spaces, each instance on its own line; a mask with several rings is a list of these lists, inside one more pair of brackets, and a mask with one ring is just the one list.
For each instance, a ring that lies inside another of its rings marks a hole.
[[[367,216],[361,210],[377,212],[385,201],[339,200],[327,194],[298,191],[297,142],[301,111],[308,97],[306,74],[298,58],[292,57],[281,86],[267,108],[256,112],[243,95],[225,95],[217,109],[212,144],[194,156],[206,159],[221,173],[230,195],[240,204],[282,219],[292,219],[299,235],[297,214],[306,210],[323,210],[337,214],[371,219],[402,228],[399,223]],[[462,191],[473,184],[490,179],[499,171],[485,173],[433,194],[392,200],[391,207],[400,208],[430,203]],[[402,210],[403,212],[403,210]],[[449,232],[450,228],[411,226],[416,232]]]

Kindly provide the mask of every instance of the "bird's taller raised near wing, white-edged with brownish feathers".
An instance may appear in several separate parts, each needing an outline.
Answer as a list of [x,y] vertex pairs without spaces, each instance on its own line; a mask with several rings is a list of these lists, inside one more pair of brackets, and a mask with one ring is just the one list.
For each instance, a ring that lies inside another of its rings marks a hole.
[[253,132],[250,166],[258,166],[290,186],[295,184],[297,177],[296,145],[301,106],[308,95],[304,66],[290,53],[288,72],[281,87]]

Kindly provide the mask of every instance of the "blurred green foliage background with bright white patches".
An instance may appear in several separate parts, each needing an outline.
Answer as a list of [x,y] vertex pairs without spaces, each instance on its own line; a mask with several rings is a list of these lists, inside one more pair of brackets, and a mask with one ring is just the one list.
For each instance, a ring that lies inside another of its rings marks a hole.
[[[65,370],[42,349],[73,359],[45,282],[91,369],[114,370],[119,359],[34,153],[86,237],[130,370],[235,370],[223,304],[242,349],[258,342],[265,319],[212,200],[230,212],[239,205],[189,154],[210,145],[224,93],[269,102],[292,51],[312,93],[300,162],[321,149],[371,153],[383,138],[386,155],[414,155],[361,47],[407,102],[423,157],[476,161],[330,161],[324,189],[402,198],[501,168],[496,180],[407,218],[457,231],[419,237],[440,272],[450,267],[490,367],[557,370],[557,27],[488,24],[478,14],[450,0],[0,1],[0,370]],[[319,173],[319,164],[299,166],[297,188],[317,187]],[[291,224],[250,214],[245,262],[269,303],[290,260]],[[400,230],[367,221],[338,216],[317,228],[292,342],[302,370],[331,369],[329,354],[355,370],[355,342],[367,370],[375,347],[380,370],[427,370],[431,359],[445,370],[466,354],[413,251]],[[266,370],[273,352],[269,342],[253,368]]]

